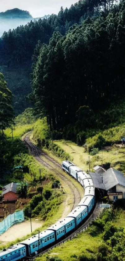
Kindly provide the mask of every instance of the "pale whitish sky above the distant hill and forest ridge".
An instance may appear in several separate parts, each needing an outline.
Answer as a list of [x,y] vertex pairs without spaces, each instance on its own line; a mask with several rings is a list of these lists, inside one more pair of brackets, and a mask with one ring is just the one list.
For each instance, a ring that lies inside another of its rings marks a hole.
[[8,9],[19,8],[27,10],[35,17],[44,15],[57,14],[62,6],[64,9],[69,8],[71,4],[78,2],[77,0],[0,0],[0,12]]

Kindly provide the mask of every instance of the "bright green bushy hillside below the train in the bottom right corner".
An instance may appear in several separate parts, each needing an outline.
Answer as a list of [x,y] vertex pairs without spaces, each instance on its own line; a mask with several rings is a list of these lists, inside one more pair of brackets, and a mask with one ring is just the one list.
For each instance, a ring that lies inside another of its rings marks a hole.
[[[122,220],[125,212],[106,212],[94,225],[47,254],[38,261],[121,261],[125,258],[124,230]],[[119,222],[120,223],[119,223]],[[119,226],[120,224],[120,226]]]

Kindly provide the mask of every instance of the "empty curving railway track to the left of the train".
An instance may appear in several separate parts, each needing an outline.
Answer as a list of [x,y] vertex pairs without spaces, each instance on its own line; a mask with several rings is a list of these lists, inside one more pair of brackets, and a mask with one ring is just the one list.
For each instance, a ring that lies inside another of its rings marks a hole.
[[[62,174],[58,170],[58,169],[60,169],[62,171],[62,167],[55,159],[51,158],[46,152],[44,152],[43,150],[41,150],[40,148],[35,146],[33,144],[33,142],[30,141],[29,135],[30,135],[30,133],[28,133],[25,136],[24,140],[25,140],[25,143],[30,147],[31,151],[33,152],[33,156],[36,158],[36,160],[38,160],[40,163],[42,163],[42,165],[44,165],[45,167],[47,167],[48,169],[54,171],[57,175],[59,175],[60,178],[64,182],[66,182],[67,186],[71,190],[72,195],[73,195],[73,206],[71,209],[71,211],[72,211],[75,207],[77,207],[78,203],[81,201],[81,195],[80,195],[80,192],[79,192],[77,186],[75,186],[75,184],[69,179],[68,175],[66,177],[64,174]],[[45,161],[45,159],[43,160],[41,158],[41,156],[44,156],[44,158],[47,159],[47,161]],[[48,161],[49,161],[49,163],[48,163]],[[52,166],[51,163],[54,166]]]

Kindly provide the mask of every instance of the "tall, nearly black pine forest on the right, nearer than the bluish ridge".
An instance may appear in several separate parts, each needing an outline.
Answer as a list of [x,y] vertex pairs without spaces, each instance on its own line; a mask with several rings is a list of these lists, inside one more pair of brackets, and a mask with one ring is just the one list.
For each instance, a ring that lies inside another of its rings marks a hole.
[[124,44],[125,1],[64,36],[54,32],[48,45],[39,41],[32,65],[38,117],[46,116],[51,129],[67,129],[69,139],[84,137],[87,128],[106,129],[113,118],[119,122],[125,112],[106,108],[124,97]]

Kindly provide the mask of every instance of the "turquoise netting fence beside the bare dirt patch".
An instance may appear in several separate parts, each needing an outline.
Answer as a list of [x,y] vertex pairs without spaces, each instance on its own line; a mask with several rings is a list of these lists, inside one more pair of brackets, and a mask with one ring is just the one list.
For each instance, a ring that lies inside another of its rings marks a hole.
[[11,226],[24,221],[24,212],[20,210],[8,215],[2,222],[0,222],[0,235],[2,235]]

